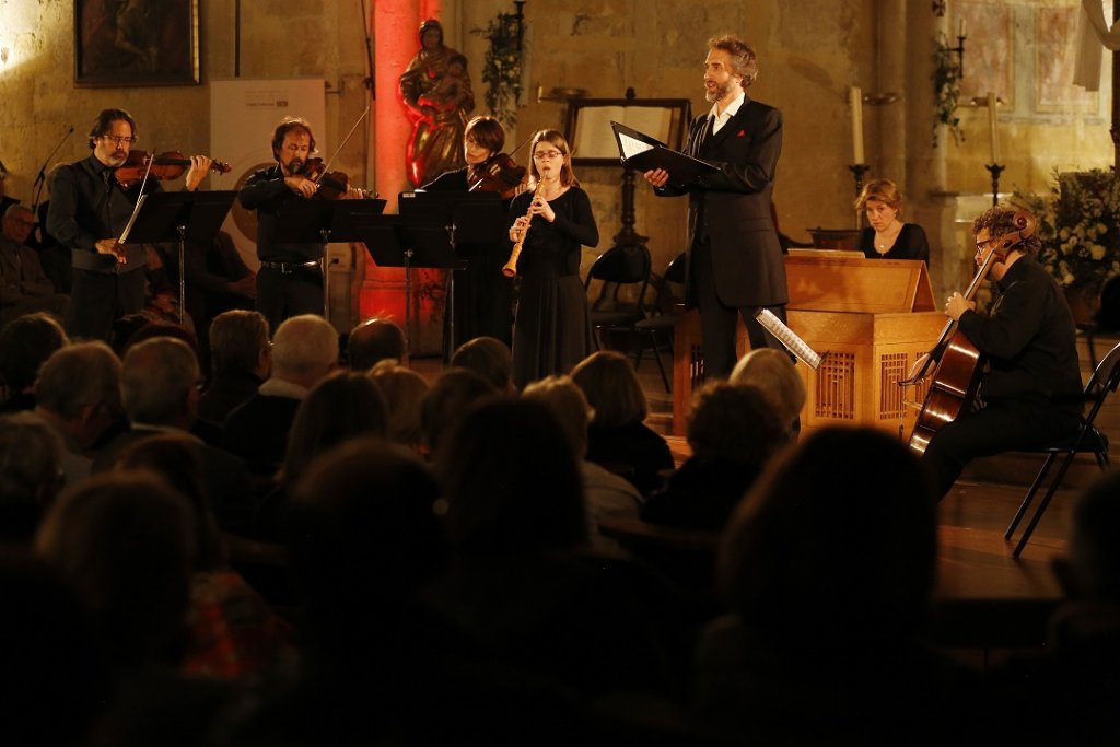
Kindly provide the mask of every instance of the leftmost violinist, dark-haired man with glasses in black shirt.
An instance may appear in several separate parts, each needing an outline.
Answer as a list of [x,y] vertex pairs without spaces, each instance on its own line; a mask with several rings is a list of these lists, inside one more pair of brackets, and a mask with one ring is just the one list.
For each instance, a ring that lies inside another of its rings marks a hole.
[[[113,323],[144,306],[146,251],[121,244],[140,192],[160,192],[158,179],[122,184],[119,168],[137,140],[136,120],[122,109],[105,109],[90,129],[88,158],[59,167],[50,185],[47,230],[71,250],[73,287],[66,318],[71,337],[108,339]],[[194,192],[213,161],[193,156],[185,189]]]

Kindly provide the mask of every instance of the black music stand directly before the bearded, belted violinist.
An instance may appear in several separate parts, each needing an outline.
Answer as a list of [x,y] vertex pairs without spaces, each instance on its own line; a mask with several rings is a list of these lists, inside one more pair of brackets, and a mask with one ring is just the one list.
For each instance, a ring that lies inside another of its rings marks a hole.
[[323,244],[319,268],[323,271],[323,318],[330,318],[330,287],[326,244],[329,242],[363,241],[358,237],[354,215],[380,215],[385,209],[383,199],[297,199],[284,205],[277,214],[276,227],[270,237],[278,244]]

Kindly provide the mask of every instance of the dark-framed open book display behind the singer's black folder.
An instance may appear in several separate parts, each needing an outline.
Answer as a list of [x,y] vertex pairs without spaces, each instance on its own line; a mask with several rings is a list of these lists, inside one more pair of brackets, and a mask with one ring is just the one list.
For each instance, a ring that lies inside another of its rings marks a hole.
[[619,122],[673,150],[684,147],[691,104],[688,99],[571,99],[564,138],[578,166],[622,166],[612,122]]

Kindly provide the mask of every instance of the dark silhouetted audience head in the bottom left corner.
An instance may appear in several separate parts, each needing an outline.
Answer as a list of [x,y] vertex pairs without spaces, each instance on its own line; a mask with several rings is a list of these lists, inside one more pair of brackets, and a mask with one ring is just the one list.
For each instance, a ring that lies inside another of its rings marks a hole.
[[10,745],[91,745],[109,698],[88,610],[57,568],[0,549],[0,710]]

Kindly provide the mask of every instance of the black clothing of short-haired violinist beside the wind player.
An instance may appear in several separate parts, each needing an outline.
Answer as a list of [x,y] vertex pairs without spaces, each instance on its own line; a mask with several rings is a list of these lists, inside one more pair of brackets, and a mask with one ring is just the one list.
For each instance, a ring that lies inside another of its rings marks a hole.
[[[447,171],[426,184],[426,192],[467,192],[467,169]],[[508,204],[506,205],[508,207]],[[526,206],[528,209],[528,206]],[[502,226],[501,234],[504,236]],[[496,337],[510,345],[513,333],[513,282],[502,274],[502,265],[510,259],[510,242],[457,244],[456,251],[467,260],[467,267],[455,271],[455,339],[447,352],[475,337]],[[444,314],[445,342],[450,336]]]

